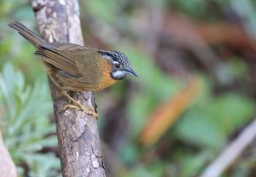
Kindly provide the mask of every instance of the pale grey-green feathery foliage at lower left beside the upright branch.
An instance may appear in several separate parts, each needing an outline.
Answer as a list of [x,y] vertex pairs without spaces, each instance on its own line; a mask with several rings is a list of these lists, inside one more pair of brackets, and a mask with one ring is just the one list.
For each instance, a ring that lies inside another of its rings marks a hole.
[[55,125],[49,122],[52,104],[47,81],[39,79],[26,85],[20,71],[7,63],[0,74],[1,129],[4,142],[19,166],[26,164],[30,176],[44,176],[60,170],[60,162],[53,153],[42,153],[44,147],[57,145]]

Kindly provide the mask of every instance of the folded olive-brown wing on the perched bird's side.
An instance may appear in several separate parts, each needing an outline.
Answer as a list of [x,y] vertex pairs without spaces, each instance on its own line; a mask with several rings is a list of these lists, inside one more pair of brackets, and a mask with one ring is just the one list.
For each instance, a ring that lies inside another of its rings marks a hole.
[[43,60],[59,68],[61,75],[66,77],[83,77],[85,83],[96,81],[100,77],[97,70],[102,63],[102,57],[96,49],[86,48],[71,43],[47,43],[41,46],[35,54]]

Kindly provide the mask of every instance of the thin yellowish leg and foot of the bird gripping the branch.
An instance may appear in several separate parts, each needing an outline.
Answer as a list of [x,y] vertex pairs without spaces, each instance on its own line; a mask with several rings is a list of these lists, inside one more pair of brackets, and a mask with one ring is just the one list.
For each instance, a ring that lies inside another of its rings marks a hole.
[[77,100],[74,100],[71,96],[69,96],[67,94],[67,91],[66,90],[61,90],[61,94],[66,96],[68,100],[71,100],[73,102],[74,105],[66,105],[63,107],[62,110],[66,110],[66,109],[77,109],[77,110],[82,110],[84,111],[84,113],[86,114],[90,114],[92,115],[93,117],[98,117],[97,113],[93,110],[93,109],[90,109],[89,107],[86,107],[86,106],[83,106],[81,105]]

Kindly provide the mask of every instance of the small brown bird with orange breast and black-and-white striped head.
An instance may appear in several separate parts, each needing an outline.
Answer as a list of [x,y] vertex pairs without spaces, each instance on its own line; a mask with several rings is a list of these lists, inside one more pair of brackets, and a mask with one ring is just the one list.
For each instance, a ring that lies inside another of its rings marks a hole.
[[34,54],[44,60],[49,79],[73,102],[62,110],[78,109],[97,117],[96,111],[81,105],[67,91],[99,91],[127,75],[137,77],[128,57],[119,51],[93,49],[75,43],[47,43],[18,21],[9,26],[32,43],[36,48]]

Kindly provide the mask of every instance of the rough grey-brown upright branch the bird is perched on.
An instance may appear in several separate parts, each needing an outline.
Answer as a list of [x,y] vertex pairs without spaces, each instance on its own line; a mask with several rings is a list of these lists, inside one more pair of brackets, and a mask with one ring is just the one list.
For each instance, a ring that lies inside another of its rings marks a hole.
[[[78,0],[32,0],[32,8],[39,33],[45,41],[84,45]],[[50,81],[49,85],[54,102],[63,176],[105,176],[96,120],[82,111],[61,111],[68,101]],[[82,105],[96,108],[91,92],[69,94]]]

